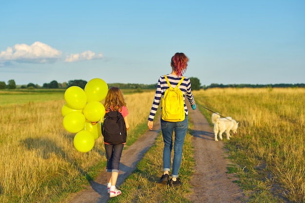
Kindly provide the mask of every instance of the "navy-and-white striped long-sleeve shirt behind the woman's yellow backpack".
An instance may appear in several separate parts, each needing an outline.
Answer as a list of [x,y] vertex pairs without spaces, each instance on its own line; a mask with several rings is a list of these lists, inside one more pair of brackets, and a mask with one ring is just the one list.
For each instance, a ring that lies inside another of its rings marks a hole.
[[[179,81],[181,80],[182,77],[178,77],[176,75],[172,74],[167,74],[166,75],[169,79],[169,82],[173,88],[177,86]],[[153,118],[158,110],[161,98],[164,96],[164,92],[169,88],[166,79],[164,75],[161,75],[158,80],[157,84],[157,89],[154,95],[153,103],[152,103],[152,109],[150,112],[150,115],[148,117],[149,121],[153,121]],[[180,90],[183,92],[183,100],[184,100],[184,110],[185,114],[188,115],[188,108],[187,105],[185,104],[185,98],[189,100],[191,105],[195,103],[193,94],[191,92],[191,80],[188,77],[184,77],[184,80],[182,81],[181,85],[179,86]],[[162,111],[162,109],[161,109]]]

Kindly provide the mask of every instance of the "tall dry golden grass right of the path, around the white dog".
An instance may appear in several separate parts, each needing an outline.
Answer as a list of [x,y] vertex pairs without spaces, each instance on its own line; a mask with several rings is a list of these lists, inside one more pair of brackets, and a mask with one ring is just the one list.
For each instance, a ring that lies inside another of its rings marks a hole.
[[290,201],[305,202],[305,89],[208,89],[194,96],[238,121],[232,142],[254,160],[251,167],[270,171],[266,179],[280,183]]

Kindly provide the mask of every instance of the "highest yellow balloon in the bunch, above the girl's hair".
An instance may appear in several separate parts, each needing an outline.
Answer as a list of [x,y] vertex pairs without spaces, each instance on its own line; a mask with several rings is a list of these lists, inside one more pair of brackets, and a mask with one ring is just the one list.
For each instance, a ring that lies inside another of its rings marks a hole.
[[87,102],[92,101],[102,101],[107,93],[108,93],[108,85],[107,83],[100,79],[100,78],[94,78],[87,82],[85,86],[85,93],[87,95]]

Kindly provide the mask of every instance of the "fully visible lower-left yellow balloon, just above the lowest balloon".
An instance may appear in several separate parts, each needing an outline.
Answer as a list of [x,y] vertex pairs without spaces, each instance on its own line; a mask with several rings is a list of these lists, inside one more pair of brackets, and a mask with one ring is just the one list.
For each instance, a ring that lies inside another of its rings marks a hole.
[[86,118],[84,114],[77,111],[68,113],[67,115],[65,115],[65,117],[63,117],[63,121],[62,121],[63,127],[68,132],[72,132],[72,133],[76,133],[82,130],[85,126],[85,123],[86,123]]

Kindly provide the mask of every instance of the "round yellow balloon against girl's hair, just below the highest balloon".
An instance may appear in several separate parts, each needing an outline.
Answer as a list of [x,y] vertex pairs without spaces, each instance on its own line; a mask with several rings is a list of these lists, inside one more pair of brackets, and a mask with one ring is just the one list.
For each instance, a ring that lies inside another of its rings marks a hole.
[[85,118],[91,122],[98,122],[105,115],[105,107],[97,101],[89,102],[83,109]]

